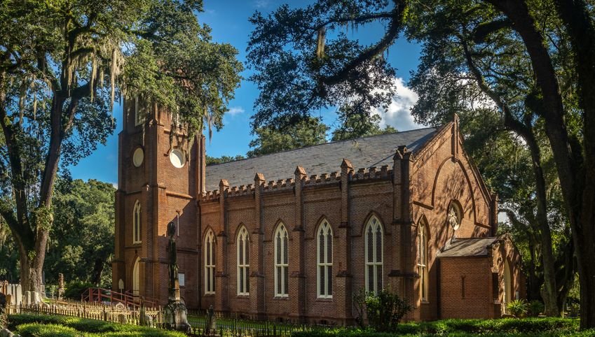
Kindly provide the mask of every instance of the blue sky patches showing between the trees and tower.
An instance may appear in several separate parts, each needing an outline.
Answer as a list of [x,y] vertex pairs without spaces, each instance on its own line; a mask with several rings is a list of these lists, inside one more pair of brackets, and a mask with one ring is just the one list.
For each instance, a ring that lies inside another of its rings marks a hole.
[[[238,58],[241,62],[246,60],[246,47],[252,24],[248,18],[259,10],[270,13],[282,3],[290,6],[304,6],[310,1],[282,1],[282,0],[204,0],[204,13],[198,15],[200,22],[212,28],[213,40],[220,43],[231,43],[238,49]],[[355,38],[363,43],[372,43],[383,34],[383,26],[374,24],[366,29],[351,32]],[[416,94],[406,87],[410,71],[416,69],[420,55],[420,45],[408,43],[400,38],[389,50],[388,59],[397,68],[397,92],[399,96],[393,99],[388,112],[378,112],[383,124],[390,124],[399,131],[419,127],[409,115],[409,108],[416,101]],[[242,76],[248,78],[249,69],[243,71]],[[254,101],[259,92],[253,83],[242,80],[240,87],[235,91],[235,99],[229,104],[229,112],[224,117],[224,128],[214,132],[212,140],[207,141],[207,155],[219,157],[221,155],[245,155],[249,150],[248,143],[254,138],[250,134],[250,116],[252,115]],[[333,125],[335,115],[332,111],[321,112],[325,123]],[[98,145],[93,155],[82,159],[77,166],[69,167],[75,179],[97,179],[104,182],[116,183],[118,181],[118,132],[121,131],[122,108],[114,106],[117,128],[111,135],[106,145]]]

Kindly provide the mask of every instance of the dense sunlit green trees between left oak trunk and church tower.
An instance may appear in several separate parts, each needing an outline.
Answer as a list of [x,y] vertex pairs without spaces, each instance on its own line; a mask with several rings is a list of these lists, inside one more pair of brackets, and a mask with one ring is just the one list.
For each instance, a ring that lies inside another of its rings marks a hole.
[[56,184],[46,257],[46,283],[58,273],[69,281],[111,287],[116,188],[97,180],[60,179]]

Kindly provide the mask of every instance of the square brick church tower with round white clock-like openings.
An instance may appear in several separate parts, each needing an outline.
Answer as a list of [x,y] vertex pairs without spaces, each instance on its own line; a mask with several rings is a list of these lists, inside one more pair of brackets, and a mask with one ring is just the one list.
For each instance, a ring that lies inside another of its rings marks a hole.
[[[177,115],[126,99],[118,134],[112,289],[167,303],[167,224],[177,225],[180,294],[198,306],[198,214],[205,185],[205,138],[189,138]],[[139,297],[135,297],[139,299]]]

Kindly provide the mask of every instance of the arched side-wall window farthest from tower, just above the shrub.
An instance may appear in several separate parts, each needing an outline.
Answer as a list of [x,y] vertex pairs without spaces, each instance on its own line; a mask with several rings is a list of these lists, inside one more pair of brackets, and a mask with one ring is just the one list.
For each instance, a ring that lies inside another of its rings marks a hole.
[[366,254],[366,291],[378,293],[383,288],[382,258],[383,231],[382,224],[376,217],[371,217],[365,229]]

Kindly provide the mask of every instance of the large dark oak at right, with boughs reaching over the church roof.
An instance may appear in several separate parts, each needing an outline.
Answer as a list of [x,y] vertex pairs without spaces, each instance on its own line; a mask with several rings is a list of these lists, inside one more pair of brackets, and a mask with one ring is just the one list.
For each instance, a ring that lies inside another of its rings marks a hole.
[[[392,68],[381,53],[401,32],[420,41],[423,55],[411,80],[420,99],[413,114],[418,122],[440,124],[471,110],[488,124],[486,111],[496,110],[498,127],[522,138],[531,157],[533,191],[526,196],[533,205],[519,203],[517,212],[531,208],[524,215],[537,224],[546,308],[554,314],[556,292],[565,286],[557,284],[552,241],[552,200],[559,197],[580,275],[581,327],[595,327],[593,8],[588,0],[318,0],[298,9],[281,6],[268,17],[256,13],[248,59],[262,93],[253,125],[283,125],[343,103],[369,115],[371,106],[386,102],[370,94],[394,94],[387,82]],[[368,47],[337,30],[372,20],[384,20],[385,31]],[[282,73],[292,80],[282,81]],[[362,83],[366,87],[355,94]]]

